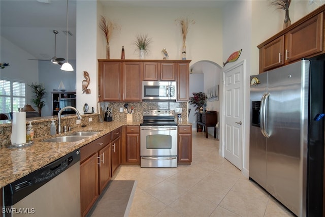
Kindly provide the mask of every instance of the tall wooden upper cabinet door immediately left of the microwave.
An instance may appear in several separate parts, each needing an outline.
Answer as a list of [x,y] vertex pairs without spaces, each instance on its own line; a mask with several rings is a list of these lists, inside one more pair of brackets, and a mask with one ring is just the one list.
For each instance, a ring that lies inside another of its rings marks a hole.
[[123,63],[123,101],[142,100],[142,63]]

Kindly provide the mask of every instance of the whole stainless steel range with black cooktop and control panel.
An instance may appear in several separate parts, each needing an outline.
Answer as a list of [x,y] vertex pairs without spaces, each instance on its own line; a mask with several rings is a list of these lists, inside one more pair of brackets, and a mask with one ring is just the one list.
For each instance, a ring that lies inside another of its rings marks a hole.
[[144,110],[140,124],[141,167],[177,167],[174,110]]

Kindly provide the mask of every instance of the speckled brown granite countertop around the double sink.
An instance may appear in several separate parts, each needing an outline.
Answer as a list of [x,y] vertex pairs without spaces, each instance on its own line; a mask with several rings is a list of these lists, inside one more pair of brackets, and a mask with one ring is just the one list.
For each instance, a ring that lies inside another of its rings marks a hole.
[[44,136],[36,138],[34,144],[24,148],[0,147],[0,188],[5,185],[46,166],[47,164],[65,156],[66,154],[88,144],[89,142],[104,136],[121,126],[139,126],[140,122],[126,123],[123,121],[97,122],[71,131],[100,131],[100,133],[89,136],[77,142],[42,142],[44,139],[69,135],[62,133],[56,136]]

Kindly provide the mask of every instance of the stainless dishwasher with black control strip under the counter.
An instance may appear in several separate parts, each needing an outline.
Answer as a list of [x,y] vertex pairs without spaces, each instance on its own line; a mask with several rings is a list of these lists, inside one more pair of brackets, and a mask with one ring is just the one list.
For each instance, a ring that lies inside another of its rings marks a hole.
[[4,216],[80,216],[80,151],[4,187]]

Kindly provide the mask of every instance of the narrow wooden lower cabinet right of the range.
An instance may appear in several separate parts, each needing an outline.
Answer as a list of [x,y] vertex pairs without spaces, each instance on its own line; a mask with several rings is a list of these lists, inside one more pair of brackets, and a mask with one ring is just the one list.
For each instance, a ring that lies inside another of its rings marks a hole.
[[178,126],[178,164],[192,162],[192,126]]

